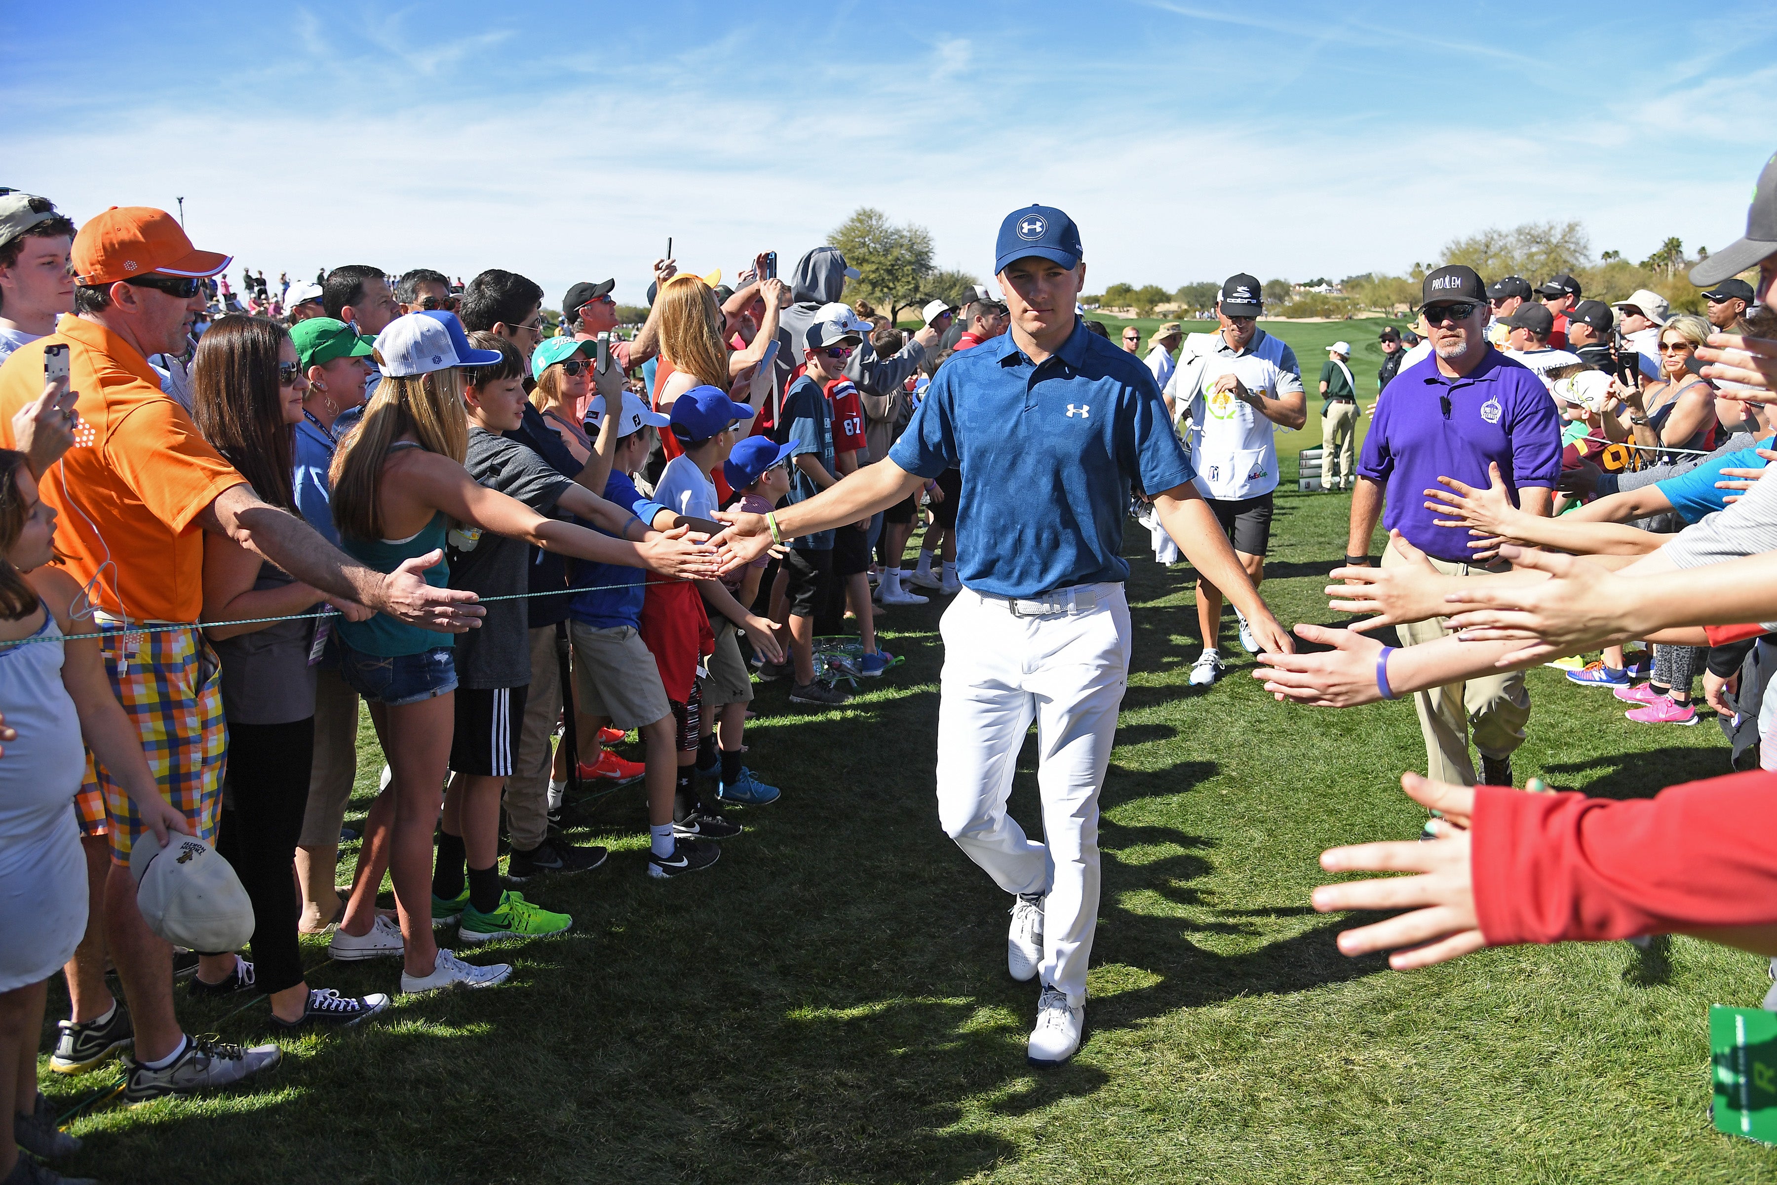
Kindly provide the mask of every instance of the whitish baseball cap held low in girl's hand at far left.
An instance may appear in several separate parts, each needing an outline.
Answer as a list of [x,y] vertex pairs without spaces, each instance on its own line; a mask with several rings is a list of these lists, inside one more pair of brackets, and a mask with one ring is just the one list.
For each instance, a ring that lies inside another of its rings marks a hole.
[[137,837],[130,849],[135,904],[142,920],[160,938],[199,954],[222,954],[252,938],[252,901],[233,865],[201,839],[153,833]]

